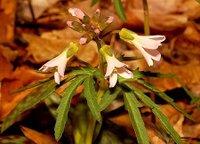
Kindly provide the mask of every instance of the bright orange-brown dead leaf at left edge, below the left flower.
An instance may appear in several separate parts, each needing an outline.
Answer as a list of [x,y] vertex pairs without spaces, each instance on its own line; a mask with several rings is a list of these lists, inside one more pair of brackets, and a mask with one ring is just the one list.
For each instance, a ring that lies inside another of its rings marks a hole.
[[39,74],[30,67],[21,66],[9,78],[3,79],[1,82],[0,119],[6,117],[33,89],[16,94],[11,94],[11,92],[45,77],[47,75]]

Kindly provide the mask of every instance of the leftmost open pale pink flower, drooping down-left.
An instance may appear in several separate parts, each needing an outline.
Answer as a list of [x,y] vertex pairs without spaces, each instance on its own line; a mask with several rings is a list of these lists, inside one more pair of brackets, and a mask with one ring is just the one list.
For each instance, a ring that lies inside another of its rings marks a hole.
[[49,71],[56,69],[54,72],[54,80],[57,84],[60,84],[61,78],[63,78],[65,74],[67,62],[74,56],[75,52],[77,51],[77,45],[70,43],[70,45],[60,55],[45,63],[39,70]]

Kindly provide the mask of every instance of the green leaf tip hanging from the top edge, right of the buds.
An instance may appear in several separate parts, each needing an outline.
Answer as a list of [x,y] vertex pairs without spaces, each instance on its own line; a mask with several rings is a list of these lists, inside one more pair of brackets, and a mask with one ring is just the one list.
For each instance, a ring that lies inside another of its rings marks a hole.
[[127,22],[125,10],[124,10],[124,7],[123,7],[123,4],[122,4],[121,0],[114,0],[114,5],[115,5],[115,9],[116,9],[117,14],[119,15],[119,17],[123,21]]

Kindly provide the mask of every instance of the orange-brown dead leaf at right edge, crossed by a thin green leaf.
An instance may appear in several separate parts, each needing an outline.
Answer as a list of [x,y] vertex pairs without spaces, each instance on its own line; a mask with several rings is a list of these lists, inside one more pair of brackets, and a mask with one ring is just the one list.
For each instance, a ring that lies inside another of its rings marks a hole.
[[[163,74],[176,74],[188,88],[192,88],[193,85],[200,81],[200,66],[198,63],[188,63],[182,66],[163,61],[154,71]],[[152,82],[154,86],[162,91],[181,87],[174,78],[152,78]]]

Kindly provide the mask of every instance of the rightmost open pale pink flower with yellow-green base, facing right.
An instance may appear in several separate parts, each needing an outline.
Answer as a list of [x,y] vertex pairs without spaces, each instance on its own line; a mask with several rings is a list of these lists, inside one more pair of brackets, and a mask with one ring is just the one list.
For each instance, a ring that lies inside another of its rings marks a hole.
[[165,40],[165,36],[139,36],[125,28],[120,31],[119,35],[122,40],[135,45],[140,50],[149,66],[153,65],[153,60],[160,61],[161,54],[157,48],[161,46],[161,42]]

